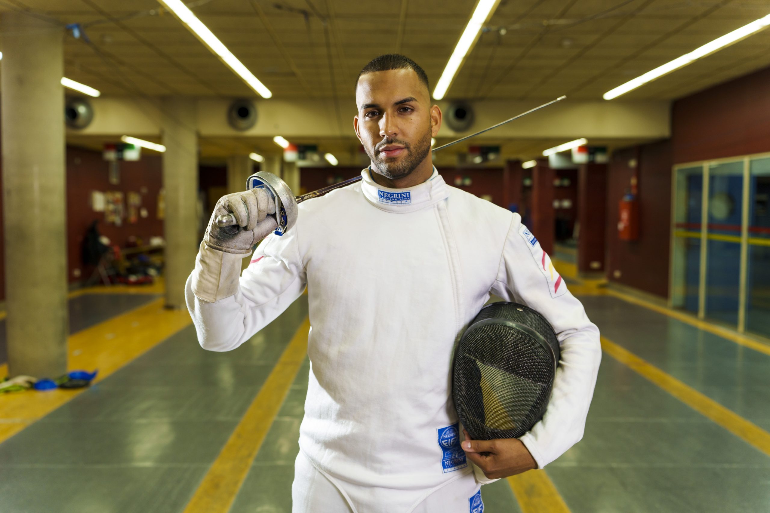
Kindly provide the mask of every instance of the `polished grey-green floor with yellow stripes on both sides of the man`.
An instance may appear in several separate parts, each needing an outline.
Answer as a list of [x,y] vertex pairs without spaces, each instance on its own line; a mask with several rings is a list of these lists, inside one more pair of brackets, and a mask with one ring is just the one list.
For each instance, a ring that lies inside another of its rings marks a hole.
[[[770,512],[770,346],[574,290],[605,350],[584,439],[545,471],[484,486],[484,511]],[[60,403],[0,396],[0,427],[39,415],[0,429],[0,513],[290,511],[306,297],[229,353],[200,349],[189,320],[126,309],[157,302],[136,298],[99,302],[127,330],[154,323],[142,340],[156,340],[99,383]]]

